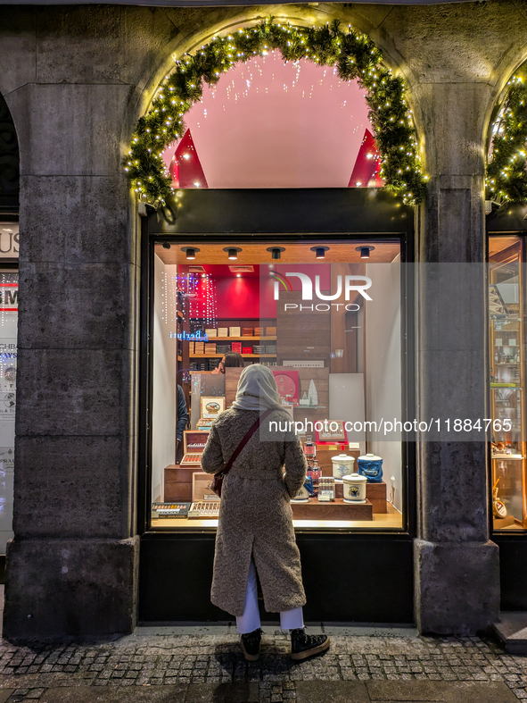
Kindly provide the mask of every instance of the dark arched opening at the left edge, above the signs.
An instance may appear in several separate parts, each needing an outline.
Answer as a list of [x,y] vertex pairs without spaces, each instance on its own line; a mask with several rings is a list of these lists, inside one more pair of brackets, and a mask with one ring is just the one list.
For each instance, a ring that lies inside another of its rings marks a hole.
[[0,213],[18,209],[19,191],[19,142],[12,114],[0,95]]

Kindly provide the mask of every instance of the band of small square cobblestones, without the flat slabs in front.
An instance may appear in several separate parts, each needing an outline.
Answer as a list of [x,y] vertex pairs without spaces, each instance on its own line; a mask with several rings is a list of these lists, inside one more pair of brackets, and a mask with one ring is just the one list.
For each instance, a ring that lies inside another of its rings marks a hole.
[[294,663],[288,637],[271,631],[259,661],[246,663],[235,632],[140,632],[114,642],[62,647],[15,647],[1,640],[0,702],[37,700],[59,686],[252,682],[260,703],[284,703],[295,699],[296,682],[313,680],[498,681],[517,699],[527,699],[527,657],[507,655],[493,640],[419,637],[413,631],[405,636],[400,630],[377,636],[331,634],[324,656]]

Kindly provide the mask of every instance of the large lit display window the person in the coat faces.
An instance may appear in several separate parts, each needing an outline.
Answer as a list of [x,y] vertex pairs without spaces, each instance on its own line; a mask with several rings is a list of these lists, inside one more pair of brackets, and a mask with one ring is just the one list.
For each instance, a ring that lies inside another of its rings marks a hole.
[[401,529],[402,444],[375,424],[401,416],[399,240],[170,240],[153,270],[152,525],[218,523],[200,462],[235,400],[243,368],[218,368],[235,352],[271,368],[304,446],[295,526]]

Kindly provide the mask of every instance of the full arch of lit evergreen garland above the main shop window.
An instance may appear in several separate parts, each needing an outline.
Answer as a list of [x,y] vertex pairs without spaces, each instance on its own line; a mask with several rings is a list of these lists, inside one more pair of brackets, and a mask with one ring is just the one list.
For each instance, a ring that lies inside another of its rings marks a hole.
[[226,37],[214,37],[176,62],[176,70],[156,91],[152,109],[137,122],[123,162],[138,197],[164,204],[172,192],[161,153],[185,134],[184,115],[201,99],[204,84],[213,86],[235,63],[276,49],[285,61],[305,58],[320,66],[336,66],[342,80],[357,79],[366,88],[385,188],[402,196],[408,205],[420,203],[427,177],[417,156],[404,81],[383,66],[382,54],[372,40],[350,28],[343,32],[336,20],[320,28],[298,29],[273,18]]

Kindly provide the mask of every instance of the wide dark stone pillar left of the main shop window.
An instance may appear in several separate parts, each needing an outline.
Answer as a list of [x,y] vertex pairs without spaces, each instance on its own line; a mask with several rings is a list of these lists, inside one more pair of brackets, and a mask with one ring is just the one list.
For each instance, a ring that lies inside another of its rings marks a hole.
[[138,273],[119,163],[134,88],[119,78],[119,13],[33,8],[29,75],[6,96],[21,146],[11,640],[130,632],[136,618]]

